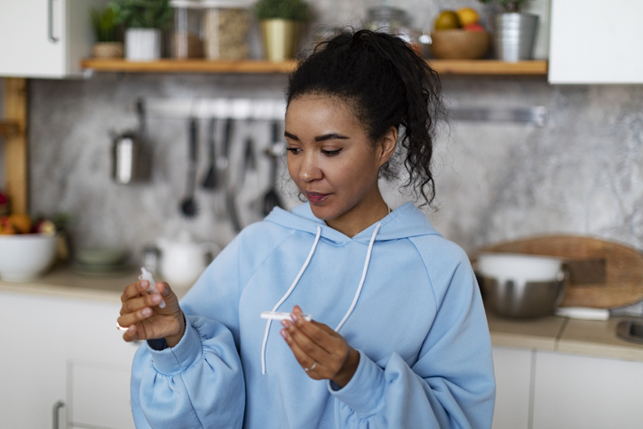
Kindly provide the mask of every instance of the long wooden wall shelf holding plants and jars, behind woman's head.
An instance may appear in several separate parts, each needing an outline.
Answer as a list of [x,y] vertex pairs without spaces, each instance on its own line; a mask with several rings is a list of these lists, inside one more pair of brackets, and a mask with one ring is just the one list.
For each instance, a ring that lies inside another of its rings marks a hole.
[[[441,75],[547,75],[547,61],[504,62],[498,60],[430,60]],[[296,61],[258,60],[157,60],[150,62],[117,60],[83,60],[81,66],[97,72],[120,73],[244,73],[286,74]]]

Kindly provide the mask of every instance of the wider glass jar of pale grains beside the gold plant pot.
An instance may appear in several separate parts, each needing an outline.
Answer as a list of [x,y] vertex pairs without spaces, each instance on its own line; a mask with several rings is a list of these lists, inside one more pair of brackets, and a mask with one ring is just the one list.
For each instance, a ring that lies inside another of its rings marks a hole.
[[203,2],[203,45],[209,60],[248,58],[250,4],[243,1],[206,0]]

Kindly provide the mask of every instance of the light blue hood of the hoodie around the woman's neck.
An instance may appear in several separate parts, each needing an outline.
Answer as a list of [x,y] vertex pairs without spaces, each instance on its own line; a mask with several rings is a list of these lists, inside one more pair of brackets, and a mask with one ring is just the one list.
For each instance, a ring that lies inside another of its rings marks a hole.
[[413,203],[402,204],[386,215],[385,218],[364,229],[353,238],[327,226],[323,220],[315,218],[313,211],[310,209],[310,203],[300,204],[292,211],[285,211],[277,207],[266,217],[266,221],[314,235],[317,234],[317,226],[320,226],[322,228],[322,240],[337,246],[342,246],[352,241],[368,243],[377,225],[381,226],[375,237],[376,242],[399,240],[420,235],[441,236],[429,219],[426,218],[425,213],[417,209]]

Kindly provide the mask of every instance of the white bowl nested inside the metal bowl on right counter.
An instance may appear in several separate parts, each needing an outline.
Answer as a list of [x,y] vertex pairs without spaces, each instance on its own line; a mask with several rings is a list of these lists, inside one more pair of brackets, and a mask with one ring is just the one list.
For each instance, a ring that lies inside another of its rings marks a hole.
[[498,282],[552,282],[560,281],[563,262],[563,258],[548,256],[484,252],[478,255],[476,271]]

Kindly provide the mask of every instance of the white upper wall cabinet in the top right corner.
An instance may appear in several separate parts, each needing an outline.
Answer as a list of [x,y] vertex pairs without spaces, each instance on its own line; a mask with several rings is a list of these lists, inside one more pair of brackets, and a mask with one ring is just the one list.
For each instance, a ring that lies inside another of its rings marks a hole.
[[643,83],[643,2],[552,0],[550,83]]

